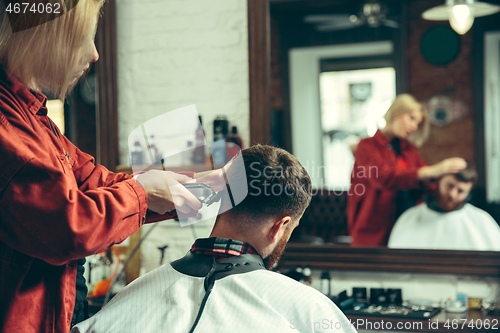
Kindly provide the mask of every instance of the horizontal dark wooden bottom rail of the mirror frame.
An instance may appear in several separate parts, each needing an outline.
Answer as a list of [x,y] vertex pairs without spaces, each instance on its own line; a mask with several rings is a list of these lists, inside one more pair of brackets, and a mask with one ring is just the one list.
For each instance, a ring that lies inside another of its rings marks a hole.
[[500,253],[289,243],[280,268],[500,276]]

